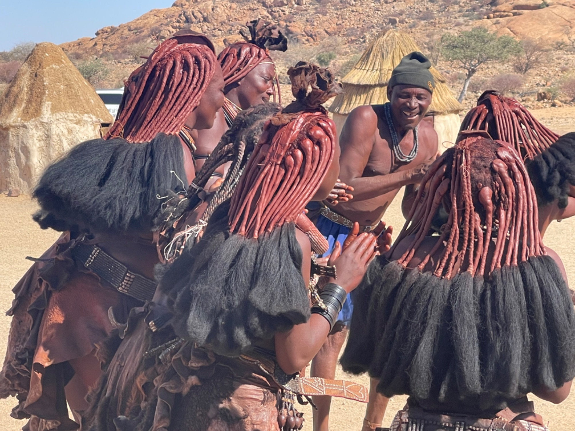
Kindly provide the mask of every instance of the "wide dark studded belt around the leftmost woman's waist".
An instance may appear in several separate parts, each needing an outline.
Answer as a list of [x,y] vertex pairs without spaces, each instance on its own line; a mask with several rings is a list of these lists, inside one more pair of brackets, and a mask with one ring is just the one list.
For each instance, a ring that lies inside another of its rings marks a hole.
[[118,292],[140,301],[152,301],[158,284],[143,275],[129,271],[120,261],[92,244],[76,243],[71,249],[75,260],[111,284]]

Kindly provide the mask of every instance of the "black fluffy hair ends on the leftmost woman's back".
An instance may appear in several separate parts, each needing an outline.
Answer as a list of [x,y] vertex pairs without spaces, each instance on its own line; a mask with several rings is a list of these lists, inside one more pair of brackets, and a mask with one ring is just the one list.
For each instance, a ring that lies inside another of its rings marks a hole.
[[159,133],[141,144],[86,141],[41,176],[34,220],[43,229],[150,230],[162,197],[183,190],[185,180],[178,136]]

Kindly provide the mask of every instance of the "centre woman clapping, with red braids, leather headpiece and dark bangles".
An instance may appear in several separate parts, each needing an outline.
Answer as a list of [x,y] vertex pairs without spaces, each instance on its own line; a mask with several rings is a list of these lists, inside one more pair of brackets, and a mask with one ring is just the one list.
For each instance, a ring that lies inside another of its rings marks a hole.
[[[327,197],[337,179],[335,125],[321,104],[340,87],[329,71],[306,63],[288,74],[296,101],[266,122],[247,163],[232,163],[220,187],[238,182],[231,199],[213,211],[200,242],[163,275],[160,289],[170,298],[171,325],[181,338],[157,341],[151,360],[169,367],[154,380],[156,400],[135,417],[117,418],[118,429],[302,426],[294,407],[306,381],[299,372],[377,253],[377,239],[367,233],[350,238],[332,257],[337,274],[332,267],[312,270],[312,249],[327,245],[304,207]],[[205,181],[209,170],[202,176]],[[321,293],[314,290],[313,306],[312,272],[332,277]],[[342,393],[358,388],[337,384]],[[356,398],[366,398],[362,390]]]

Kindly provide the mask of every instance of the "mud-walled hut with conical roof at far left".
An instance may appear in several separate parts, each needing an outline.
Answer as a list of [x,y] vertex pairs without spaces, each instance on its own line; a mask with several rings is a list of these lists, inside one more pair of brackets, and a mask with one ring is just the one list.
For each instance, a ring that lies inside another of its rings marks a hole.
[[29,193],[51,161],[111,122],[62,48],[37,44],[0,95],[0,192]]

